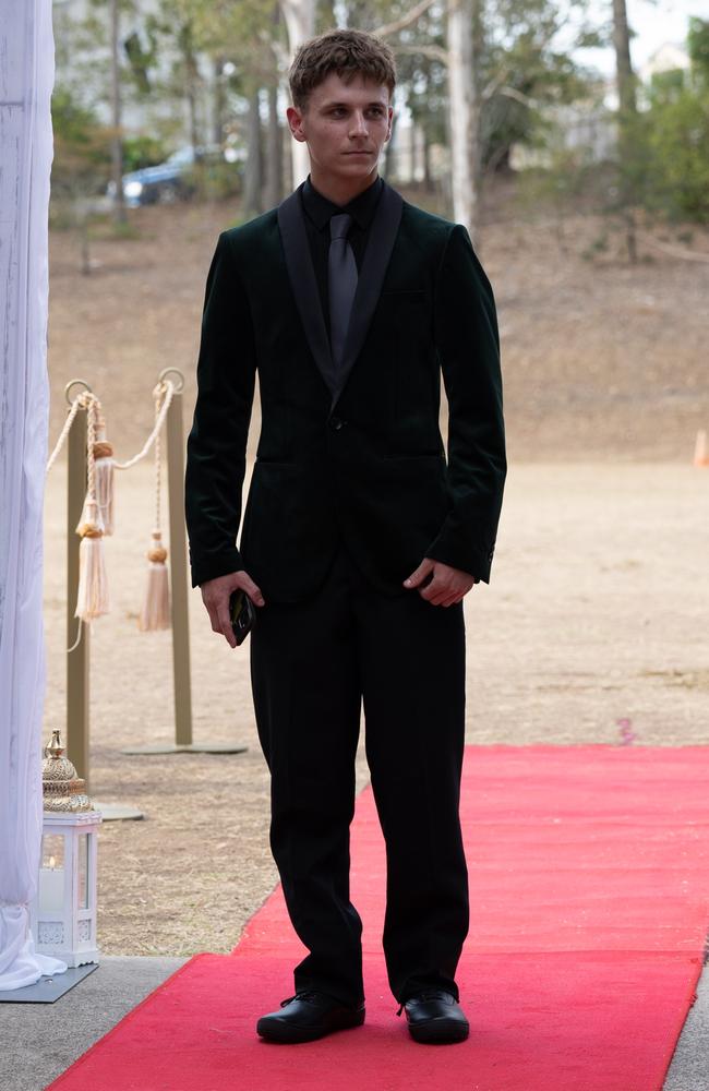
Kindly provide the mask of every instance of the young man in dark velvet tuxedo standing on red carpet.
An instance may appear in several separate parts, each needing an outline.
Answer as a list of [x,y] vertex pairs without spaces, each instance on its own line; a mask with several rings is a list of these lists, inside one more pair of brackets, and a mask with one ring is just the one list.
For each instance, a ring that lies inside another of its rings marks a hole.
[[[468,1034],[455,980],[468,931],[462,598],[489,582],[506,472],[498,336],[465,227],[378,177],[394,86],[393,55],[372,35],[301,46],[288,122],[310,175],[220,233],[206,284],[185,480],[192,585],[231,646],[230,594],[257,607],[271,844],[309,950],[296,995],[257,1022],[278,1042],[364,1020],[349,897],[362,702],[392,992],[417,1041]],[[256,372],[261,435],[237,548]]]

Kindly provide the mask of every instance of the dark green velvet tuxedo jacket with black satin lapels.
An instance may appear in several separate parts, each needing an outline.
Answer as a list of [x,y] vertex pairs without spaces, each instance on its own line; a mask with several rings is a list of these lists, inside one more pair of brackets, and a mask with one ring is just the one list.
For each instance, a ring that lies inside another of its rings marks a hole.
[[[254,377],[262,428],[239,549]],[[440,381],[449,403],[447,463]],[[192,586],[316,590],[341,536],[384,592],[424,556],[489,582],[506,472],[493,292],[465,227],[384,184],[335,375],[299,190],[218,238],[188,437]]]

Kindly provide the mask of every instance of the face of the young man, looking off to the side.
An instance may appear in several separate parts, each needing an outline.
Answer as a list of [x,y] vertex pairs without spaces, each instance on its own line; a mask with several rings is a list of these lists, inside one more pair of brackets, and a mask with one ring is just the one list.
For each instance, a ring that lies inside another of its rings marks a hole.
[[393,113],[386,86],[359,73],[346,83],[331,72],[310,93],[302,112],[288,108],[288,122],[296,140],[307,142],[321,177],[353,181],[376,170]]

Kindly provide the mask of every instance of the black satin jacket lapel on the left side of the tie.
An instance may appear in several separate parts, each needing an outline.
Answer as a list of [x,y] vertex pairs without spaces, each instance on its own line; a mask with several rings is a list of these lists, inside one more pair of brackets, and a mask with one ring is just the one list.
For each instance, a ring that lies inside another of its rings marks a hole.
[[302,185],[278,205],[278,228],[286,256],[286,266],[296,305],[303,323],[305,337],[315,363],[331,393],[336,387],[333,357],[329,349],[327,327],[315,279],[315,269],[310,253],[303,209],[300,199]]

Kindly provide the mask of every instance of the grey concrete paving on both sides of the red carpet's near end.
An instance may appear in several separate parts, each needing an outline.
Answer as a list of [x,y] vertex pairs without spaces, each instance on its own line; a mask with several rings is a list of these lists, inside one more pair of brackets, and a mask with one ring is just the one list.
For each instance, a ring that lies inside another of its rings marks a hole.
[[[44,1091],[187,961],[185,958],[104,956],[97,970],[55,1004],[0,1005],[0,1091]],[[705,967],[697,1000],[689,1010],[663,1091],[707,1091],[708,1088],[709,974]],[[118,1079],[115,1091],[121,1091]],[[432,1087],[431,1091],[441,1089]],[[550,1088],[550,1091],[561,1089]]]

